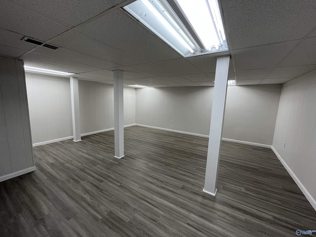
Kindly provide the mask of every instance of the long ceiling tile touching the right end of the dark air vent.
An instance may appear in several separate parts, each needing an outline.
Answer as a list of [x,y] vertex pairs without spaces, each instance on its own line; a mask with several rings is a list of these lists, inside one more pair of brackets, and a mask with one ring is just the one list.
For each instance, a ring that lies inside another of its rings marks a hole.
[[94,40],[76,31],[65,32],[53,40],[49,40],[49,42],[124,66],[146,63],[145,60],[137,56],[132,56],[129,53]]

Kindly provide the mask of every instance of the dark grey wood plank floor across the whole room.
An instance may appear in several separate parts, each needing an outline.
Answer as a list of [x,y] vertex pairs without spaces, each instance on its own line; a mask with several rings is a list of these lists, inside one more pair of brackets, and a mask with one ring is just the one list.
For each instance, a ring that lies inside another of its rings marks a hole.
[[34,148],[37,171],[0,183],[0,237],[282,237],[316,211],[272,150],[223,142],[216,197],[207,139],[140,126]]

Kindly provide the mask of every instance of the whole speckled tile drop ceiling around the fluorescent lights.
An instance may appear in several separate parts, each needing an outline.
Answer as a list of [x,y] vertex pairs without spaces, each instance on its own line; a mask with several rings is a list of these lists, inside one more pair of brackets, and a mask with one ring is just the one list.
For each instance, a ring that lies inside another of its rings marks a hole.
[[[214,85],[216,57],[183,58],[120,7],[133,0],[10,0],[0,7],[0,55],[80,79],[152,87]],[[237,85],[284,83],[316,69],[315,0],[221,0]],[[60,46],[52,50],[24,36]]]

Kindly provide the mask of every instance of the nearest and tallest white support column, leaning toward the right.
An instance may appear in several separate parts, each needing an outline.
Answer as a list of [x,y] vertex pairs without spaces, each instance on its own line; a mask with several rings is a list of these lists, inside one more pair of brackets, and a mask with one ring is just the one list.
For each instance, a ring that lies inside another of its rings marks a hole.
[[216,195],[230,56],[217,58],[203,192]]

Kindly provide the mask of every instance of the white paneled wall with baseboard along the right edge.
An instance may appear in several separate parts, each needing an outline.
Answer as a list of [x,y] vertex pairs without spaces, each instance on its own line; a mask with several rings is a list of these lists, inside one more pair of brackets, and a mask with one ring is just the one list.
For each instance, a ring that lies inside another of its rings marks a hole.
[[283,84],[273,149],[316,209],[316,70]]

